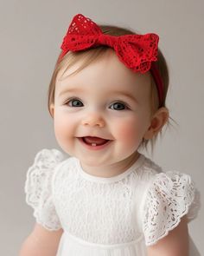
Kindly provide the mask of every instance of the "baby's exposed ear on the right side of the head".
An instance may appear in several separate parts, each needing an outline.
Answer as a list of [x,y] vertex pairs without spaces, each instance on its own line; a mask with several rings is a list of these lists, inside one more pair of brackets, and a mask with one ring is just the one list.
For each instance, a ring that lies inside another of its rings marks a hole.
[[169,119],[169,110],[168,108],[159,108],[155,115],[151,117],[150,121],[150,127],[146,131],[146,133],[143,135],[143,138],[145,140],[152,139],[155,135],[158,134],[158,132],[163,128],[164,124]]

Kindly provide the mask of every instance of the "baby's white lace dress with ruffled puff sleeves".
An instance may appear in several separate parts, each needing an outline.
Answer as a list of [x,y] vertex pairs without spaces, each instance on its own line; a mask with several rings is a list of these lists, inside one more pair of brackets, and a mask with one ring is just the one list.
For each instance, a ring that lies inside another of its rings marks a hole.
[[[80,161],[42,149],[29,167],[26,201],[38,223],[63,229],[57,256],[145,256],[184,214],[193,220],[199,192],[188,174],[163,173],[140,154],[123,174],[87,174]],[[191,244],[191,255],[195,248]]]

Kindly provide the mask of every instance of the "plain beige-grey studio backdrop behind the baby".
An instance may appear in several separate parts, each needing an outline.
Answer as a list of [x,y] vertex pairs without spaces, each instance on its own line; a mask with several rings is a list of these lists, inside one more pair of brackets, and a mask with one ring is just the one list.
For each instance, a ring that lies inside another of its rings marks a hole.
[[[152,158],[167,170],[191,174],[201,195],[204,192],[203,1],[1,0],[1,255],[17,255],[35,222],[23,192],[26,172],[37,151],[58,148],[46,96],[61,39],[77,13],[97,23],[160,35],[170,69],[168,106],[179,126],[167,130]],[[189,224],[201,252],[203,213],[201,208]]]

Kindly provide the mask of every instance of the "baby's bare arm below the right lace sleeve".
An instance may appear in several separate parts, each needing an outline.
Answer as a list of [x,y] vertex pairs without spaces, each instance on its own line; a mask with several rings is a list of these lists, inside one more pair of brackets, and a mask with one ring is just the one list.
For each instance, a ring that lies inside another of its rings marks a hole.
[[188,225],[186,215],[181,222],[155,245],[147,247],[148,256],[188,256]]

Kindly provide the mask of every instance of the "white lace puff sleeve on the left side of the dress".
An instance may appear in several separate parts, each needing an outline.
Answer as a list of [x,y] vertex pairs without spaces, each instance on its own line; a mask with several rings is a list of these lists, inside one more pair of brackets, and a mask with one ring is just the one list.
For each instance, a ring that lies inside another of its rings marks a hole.
[[26,202],[34,209],[36,222],[48,230],[61,228],[52,196],[54,168],[64,159],[57,149],[42,149],[35,155],[34,164],[29,167],[25,182]]

